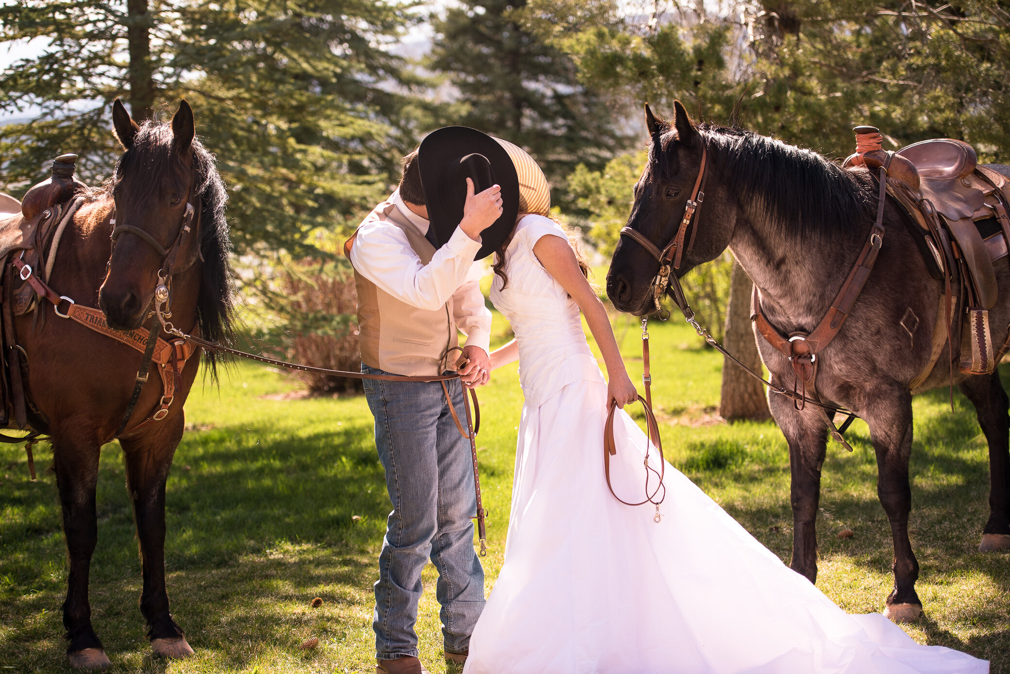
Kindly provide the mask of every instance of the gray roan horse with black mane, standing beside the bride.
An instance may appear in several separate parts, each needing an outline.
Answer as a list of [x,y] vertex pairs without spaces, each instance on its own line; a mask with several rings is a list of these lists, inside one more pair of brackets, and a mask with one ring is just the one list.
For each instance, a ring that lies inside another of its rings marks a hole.
[[[827,313],[867,241],[878,205],[874,178],[866,168],[843,170],[814,152],[749,131],[695,126],[680,102],[673,123],[647,110],[646,123],[649,159],[635,185],[628,227],[661,249],[673,240],[699,173],[704,144],[705,199],[694,223],[693,246],[677,275],[715,259],[728,247],[761,291],[763,311],[780,332],[811,331]],[[991,167],[1010,175],[1010,166]],[[909,383],[929,361],[943,289],[930,276],[905,225],[907,216],[890,197],[884,215],[887,234],[866,288],[840,333],[818,354],[817,391],[824,403],[848,408],[870,426],[879,470],[877,492],[894,538],[895,585],[885,614],[907,621],[922,610],[915,592],[919,565],[908,538]],[[607,275],[607,293],[614,305],[639,316],[652,311],[650,285],[659,266],[640,243],[622,237]],[[1005,260],[995,266],[1000,300],[990,311],[992,341],[1002,344],[1010,321],[1010,268]],[[794,374],[788,359],[764,339],[758,342],[771,381],[791,389]],[[947,382],[947,355],[944,350],[926,385]],[[966,376],[954,371],[989,441],[991,513],[983,530],[983,549],[1010,547],[1007,395],[997,373]],[[769,405],[789,443],[791,567],[814,582],[826,418],[812,405],[794,409],[793,401],[784,396],[770,396]]]

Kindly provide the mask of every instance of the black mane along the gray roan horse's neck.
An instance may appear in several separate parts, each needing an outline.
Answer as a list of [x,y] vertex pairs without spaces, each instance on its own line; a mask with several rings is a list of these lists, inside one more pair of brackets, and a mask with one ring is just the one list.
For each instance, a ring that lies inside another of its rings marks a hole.
[[749,197],[782,234],[830,239],[872,217],[877,200],[865,172],[753,131],[711,124],[699,131],[727,189]]

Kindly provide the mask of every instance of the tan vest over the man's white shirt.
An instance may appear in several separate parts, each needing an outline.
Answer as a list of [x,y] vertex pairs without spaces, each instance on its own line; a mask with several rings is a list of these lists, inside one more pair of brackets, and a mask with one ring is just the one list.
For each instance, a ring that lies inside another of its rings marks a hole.
[[[435,248],[394,204],[377,208],[366,222],[380,219],[392,223],[407,235],[410,247],[427,264]],[[344,244],[348,253],[355,236]],[[359,342],[362,362],[370,367],[418,376],[441,374],[449,367],[444,361],[448,350],[459,345],[459,330],[452,319],[452,299],[440,309],[427,311],[402,302],[382,290],[355,269],[358,289]],[[456,360],[457,358],[449,358]]]

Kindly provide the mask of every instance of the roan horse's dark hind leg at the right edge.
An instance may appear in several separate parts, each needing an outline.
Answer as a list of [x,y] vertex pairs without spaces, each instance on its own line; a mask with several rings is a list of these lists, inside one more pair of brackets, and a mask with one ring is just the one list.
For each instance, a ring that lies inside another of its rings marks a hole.
[[975,405],[979,426],[989,441],[989,522],[982,530],[981,552],[1010,550],[1010,401],[998,372],[970,376],[961,391]]

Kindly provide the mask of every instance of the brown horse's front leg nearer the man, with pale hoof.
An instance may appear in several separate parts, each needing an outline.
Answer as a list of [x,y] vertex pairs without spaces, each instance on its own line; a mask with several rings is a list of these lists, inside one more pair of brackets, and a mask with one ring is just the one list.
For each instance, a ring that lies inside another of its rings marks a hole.
[[165,482],[183,435],[183,416],[166,420],[166,424],[170,426],[156,427],[139,438],[120,439],[119,444],[126,461],[126,488],[140,542],[140,612],[147,623],[150,648],[166,658],[185,658],[193,654],[193,649],[172,620],[165,588]]

